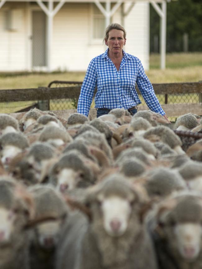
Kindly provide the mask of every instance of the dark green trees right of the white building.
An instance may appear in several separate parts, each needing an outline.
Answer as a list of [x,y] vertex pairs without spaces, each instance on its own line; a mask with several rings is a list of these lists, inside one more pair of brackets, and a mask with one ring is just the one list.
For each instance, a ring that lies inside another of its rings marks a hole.
[[[167,52],[183,50],[183,34],[189,36],[189,51],[202,51],[202,1],[178,0],[167,4]],[[150,51],[159,35],[159,16],[150,5]]]

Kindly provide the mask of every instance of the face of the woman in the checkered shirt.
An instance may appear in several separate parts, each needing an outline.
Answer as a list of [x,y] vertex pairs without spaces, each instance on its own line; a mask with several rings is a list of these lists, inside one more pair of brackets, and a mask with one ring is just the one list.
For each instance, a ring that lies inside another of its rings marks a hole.
[[108,45],[109,51],[113,54],[122,53],[123,45],[125,45],[126,39],[124,39],[124,33],[122,30],[112,29],[109,31],[109,37],[105,40],[105,44]]

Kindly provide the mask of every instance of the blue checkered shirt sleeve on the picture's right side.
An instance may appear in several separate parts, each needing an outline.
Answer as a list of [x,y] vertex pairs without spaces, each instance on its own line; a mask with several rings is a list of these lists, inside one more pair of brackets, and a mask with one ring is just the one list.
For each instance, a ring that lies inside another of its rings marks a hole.
[[145,103],[149,107],[151,111],[157,112],[161,115],[164,115],[165,112],[163,111],[158,98],[154,93],[154,88],[149,81],[147,75],[145,74],[144,68],[142,66],[141,61],[138,64],[138,76],[136,79],[136,83],[138,88],[140,89],[140,93],[145,100]]

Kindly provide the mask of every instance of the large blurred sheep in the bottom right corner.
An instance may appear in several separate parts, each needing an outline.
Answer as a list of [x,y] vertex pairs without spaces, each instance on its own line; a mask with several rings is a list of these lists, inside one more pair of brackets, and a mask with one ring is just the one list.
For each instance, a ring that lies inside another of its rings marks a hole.
[[157,205],[148,223],[154,239],[159,268],[202,267],[202,197],[182,193]]

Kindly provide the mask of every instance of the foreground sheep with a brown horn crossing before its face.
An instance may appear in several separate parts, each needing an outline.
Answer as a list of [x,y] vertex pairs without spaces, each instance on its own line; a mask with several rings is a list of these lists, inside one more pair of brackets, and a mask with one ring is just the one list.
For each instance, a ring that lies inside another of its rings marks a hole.
[[[59,193],[49,185],[29,188],[35,202],[35,218],[52,217],[33,229],[30,242],[30,269],[53,269],[60,231],[68,216],[68,207]],[[55,220],[54,220],[55,219]]]

